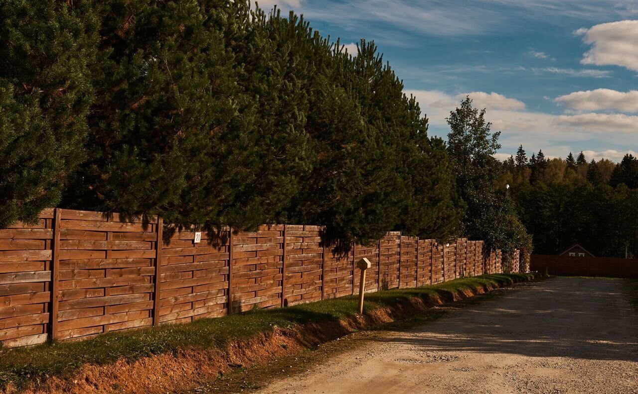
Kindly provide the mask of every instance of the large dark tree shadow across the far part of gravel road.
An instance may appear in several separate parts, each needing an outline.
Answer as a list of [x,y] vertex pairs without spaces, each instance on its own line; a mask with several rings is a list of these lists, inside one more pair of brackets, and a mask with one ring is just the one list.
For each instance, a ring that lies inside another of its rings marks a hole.
[[419,335],[379,341],[424,351],[638,362],[638,313],[622,280],[553,278],[523,286],[425,325]]

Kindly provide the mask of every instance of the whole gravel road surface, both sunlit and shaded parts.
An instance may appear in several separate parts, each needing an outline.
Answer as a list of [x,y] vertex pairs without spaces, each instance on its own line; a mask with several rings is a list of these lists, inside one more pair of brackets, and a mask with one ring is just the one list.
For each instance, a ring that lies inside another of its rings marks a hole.
[[638,314],[620,280],[552,278],[260,393],[638,393]]

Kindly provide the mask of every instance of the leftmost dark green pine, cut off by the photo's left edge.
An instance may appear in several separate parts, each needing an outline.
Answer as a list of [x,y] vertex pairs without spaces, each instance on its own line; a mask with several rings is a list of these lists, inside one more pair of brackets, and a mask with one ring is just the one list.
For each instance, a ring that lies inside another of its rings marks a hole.
[[98,43],[91,2],[0,4],[0,228],[57,206],[84,158]]

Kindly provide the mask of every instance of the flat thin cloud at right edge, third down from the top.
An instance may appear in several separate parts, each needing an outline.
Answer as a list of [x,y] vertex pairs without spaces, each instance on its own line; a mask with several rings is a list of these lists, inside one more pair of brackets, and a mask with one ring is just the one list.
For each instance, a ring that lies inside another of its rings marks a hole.
[[559,115],[556,124],[590,132],[638,132],[638,116],[623,113],[582,113]]

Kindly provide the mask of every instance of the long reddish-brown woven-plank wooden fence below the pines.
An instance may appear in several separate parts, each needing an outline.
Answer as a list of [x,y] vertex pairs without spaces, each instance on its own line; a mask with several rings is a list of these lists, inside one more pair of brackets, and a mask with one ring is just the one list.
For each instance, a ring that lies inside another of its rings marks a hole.
[[164,227],[161,218],[48,209],[36,225],[0,230],[3,346],[352,295],[362,257],[373,264],[366,292],[502,271],[500,251],[467,239],[444,245],[389,232],[338,255],[319,226],[222,229],[215,239],[200,233],[200,243],[193,231]]

